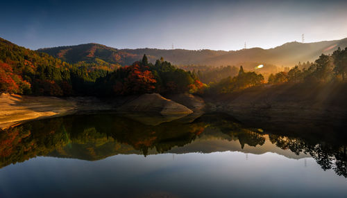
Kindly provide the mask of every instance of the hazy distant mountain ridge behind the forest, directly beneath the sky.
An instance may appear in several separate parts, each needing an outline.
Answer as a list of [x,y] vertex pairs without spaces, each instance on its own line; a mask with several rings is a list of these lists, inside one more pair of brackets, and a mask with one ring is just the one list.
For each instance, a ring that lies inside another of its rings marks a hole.
[[150,62],[164,57],[164,60],[176,65],[247,65],[249,63],[266,63],[277,66],[294,66],[298,62],[316,60],[322,53],[329,54],[338,47],[345,48],[347,38],[314,42],[300,43],[290,42],[276,48],[262,49],[249,48],[239,51],[190,51],[183,49],[163,50],[155,48],[117,49],[101,44],[81,44],[77,46],[60,46],[54,48],[42,48],[38,51],[48,53],[66,62],[108,62],[111,64],[128,65],[135,60],[141,59],[146,54]]

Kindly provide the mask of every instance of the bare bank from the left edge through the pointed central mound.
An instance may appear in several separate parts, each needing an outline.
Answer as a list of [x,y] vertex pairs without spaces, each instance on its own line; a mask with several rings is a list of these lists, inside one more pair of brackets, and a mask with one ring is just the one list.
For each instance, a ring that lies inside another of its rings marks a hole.
[[[139,118],[142,121],[147,118],[147,121],[152,124],[153,122],[158,124],[176,120],[193,112],[184,105],[155,93],[102,99],[94,97],[19,96],[3,93],[0,96],[0,129],[12,127],[28,120],[70,114],[93,114],[100,111],[133,115],[132,118]],[[157,116],[155,117],[155,115]]]

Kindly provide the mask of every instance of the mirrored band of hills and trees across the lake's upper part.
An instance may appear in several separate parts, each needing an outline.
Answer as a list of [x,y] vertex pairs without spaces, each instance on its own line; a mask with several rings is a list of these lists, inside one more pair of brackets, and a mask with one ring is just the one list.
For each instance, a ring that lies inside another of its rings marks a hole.
[[193,123],[151,126],[110,114],[37,120],[0,132],[0,168],[35,156],[96,161],[117,154],[240,151],[275,152],[287,158],[312,158],[323,170],[347,177],[346,138],[328,141],[268,134],[225,115],[204,115]]

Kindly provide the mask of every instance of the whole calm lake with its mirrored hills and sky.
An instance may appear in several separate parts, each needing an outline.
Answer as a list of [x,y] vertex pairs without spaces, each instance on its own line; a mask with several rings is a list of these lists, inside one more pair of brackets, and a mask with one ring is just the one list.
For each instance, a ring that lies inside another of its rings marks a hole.
[[268,132],[223,114],[35,120],[0,133],[0,197],[346,197],[342,132]]

